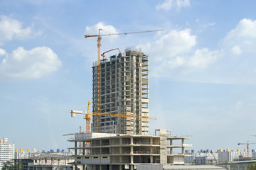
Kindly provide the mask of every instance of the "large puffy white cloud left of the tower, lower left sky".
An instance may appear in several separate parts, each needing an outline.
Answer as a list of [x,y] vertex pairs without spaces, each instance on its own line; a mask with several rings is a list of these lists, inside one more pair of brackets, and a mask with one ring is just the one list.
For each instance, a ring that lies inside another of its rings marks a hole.
[[0,74],[15,79],[38,79],[61,66],[58,56],[49,47],[25,50],[18,47],[0,63]]

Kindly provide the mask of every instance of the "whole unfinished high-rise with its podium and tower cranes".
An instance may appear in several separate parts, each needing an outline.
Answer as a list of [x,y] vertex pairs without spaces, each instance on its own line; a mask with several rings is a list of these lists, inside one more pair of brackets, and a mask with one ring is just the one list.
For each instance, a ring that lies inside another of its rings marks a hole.
[[[139,50],[118,48],[117,55],[101,53],[102,36],[97,38],[98,60],[92,65],[92,102],[85,115],[86,132],[74,135],[75,169],[143,169],[141,165],[184,165],[186,140],[191,136],[171,136],[171,130],[155,130],[149,135],[149,56]],[[132,33],[148,33],[147,30]],[[90,112],[92,105],[92,112]],[[92,117],[92,118],[91,118]]]

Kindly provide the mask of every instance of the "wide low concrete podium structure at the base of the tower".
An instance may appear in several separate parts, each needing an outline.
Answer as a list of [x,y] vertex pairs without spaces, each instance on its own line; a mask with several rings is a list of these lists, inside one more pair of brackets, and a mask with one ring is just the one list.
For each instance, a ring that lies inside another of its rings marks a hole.
[[[171,136],[171,130],[155,130],[154,135],[78,133],[69,141],[75,143],[70,148],[75,150],[75,167],[104,170],[137,169],[139,164],[185,164],[184,149],[193,147],[185,143],[189,139]],[[78,142],[82,142],[82,147],[78,147]]]

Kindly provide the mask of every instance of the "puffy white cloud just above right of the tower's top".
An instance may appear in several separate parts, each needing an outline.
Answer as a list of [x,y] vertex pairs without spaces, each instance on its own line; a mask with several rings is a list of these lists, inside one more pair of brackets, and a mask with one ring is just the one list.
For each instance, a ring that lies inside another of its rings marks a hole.
[[185,29],[171,30],[162,35],[156,42],[148,42],[144,45],[138,45],[138,47],[154,56],[154,60],[161,61],[188,52],[194,45],[196,45],[196,36],[191,35],[190,29]]

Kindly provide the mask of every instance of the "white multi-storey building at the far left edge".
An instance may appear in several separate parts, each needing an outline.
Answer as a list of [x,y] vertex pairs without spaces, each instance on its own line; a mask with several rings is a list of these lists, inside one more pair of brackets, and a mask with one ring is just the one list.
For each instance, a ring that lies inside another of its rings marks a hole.
[[0,140],[0,169],[5,162],[11,162],[14,159],[14,144],[8,143],[8,138]]

